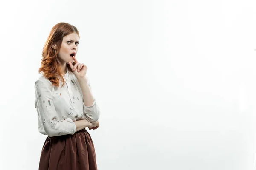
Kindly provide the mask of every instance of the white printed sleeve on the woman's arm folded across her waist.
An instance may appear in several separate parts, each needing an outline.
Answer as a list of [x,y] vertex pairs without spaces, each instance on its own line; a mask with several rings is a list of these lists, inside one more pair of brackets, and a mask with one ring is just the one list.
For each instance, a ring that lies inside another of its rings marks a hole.
[[35,82],[35,96],[38,121],[41,122],[44,132],[48,136],[73,135],[76,132],[76,125],[72,119],[58,119],[52,91],[48,83],[37,80]]

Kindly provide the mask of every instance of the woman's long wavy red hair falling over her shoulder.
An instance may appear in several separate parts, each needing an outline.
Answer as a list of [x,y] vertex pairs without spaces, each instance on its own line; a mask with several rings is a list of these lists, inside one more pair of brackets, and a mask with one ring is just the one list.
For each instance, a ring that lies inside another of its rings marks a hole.
[[[80,38],[79,31],[76,29],[75,26],[69,23],[62,23],[62,22],[56,24],[55,26],[52,27],[52,30],[43,48],[43,52],[42,52],[43,58],[41,59],[41,67],[39,68],[39,73],[42,72],[44,77],[49,79],[49,81],[52,82],[52,85],[56,87],[59,86],[58,76],[64,82],[64,78],[61,72],[61,65],[57,59],[58,53],[61,49],[61,43],[62,43],[63,37],[71,33],[78,34],[78,37]],[[54,45],[56,45],[56,49],[53,48]],[[73,65],[75,64],[76,63],[73,62]],[[72,71],[69,64],[67,64],[67,69],[69,71]]]

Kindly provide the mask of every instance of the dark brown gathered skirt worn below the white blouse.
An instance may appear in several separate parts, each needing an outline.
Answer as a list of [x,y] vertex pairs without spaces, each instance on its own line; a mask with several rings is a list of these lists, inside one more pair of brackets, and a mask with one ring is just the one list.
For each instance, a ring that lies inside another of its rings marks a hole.
[[97,170],[93,140],[87,130],[73,135],[47,136],[39,170]]

